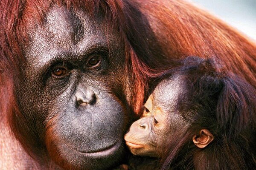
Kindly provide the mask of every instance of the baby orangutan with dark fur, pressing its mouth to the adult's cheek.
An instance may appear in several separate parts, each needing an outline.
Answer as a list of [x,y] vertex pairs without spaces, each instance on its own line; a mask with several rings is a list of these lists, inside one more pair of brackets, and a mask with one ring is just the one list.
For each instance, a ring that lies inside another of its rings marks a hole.
[[256,90],[215,59],[187,57],[162,77],[125,141],[159,169],[256,169]]

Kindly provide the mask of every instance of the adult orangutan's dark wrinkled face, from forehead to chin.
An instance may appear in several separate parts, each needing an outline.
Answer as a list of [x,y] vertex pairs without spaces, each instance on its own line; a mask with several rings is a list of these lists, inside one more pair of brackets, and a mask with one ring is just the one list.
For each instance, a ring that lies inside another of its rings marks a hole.
[[100,16],[57,6],[29,30],[17,90],[26,117],[19,123],[29,127],[22,133],[57,164],[107,169],[122,158],[125,113],[114,94],[122,82],[122,43],[114,34],[107,42]]

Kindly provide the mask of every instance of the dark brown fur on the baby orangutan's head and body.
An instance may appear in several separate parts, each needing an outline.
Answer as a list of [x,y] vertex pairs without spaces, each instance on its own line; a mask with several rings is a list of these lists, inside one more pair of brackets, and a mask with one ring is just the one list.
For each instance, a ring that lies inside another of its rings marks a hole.
[[[214,58],[187,57],[161,78],[168,77],[178,77],[185,89],[177,111],[190,127],[176,142],[169,140],[162,169],[255,169],[256,90]],[[203,128],[215,139],[200,149],[192,144],[192,136]]]

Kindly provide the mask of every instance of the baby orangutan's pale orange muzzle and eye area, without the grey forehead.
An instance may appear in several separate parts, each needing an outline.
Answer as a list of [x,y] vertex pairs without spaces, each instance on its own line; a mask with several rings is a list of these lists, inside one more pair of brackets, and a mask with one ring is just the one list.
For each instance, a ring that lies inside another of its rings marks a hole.
[[157,147],[160,146],[158,136],[164,136],[165,113],[161,108],[152,112],[153,96],[145,103],[143,117],[134,122],[129,132],[125,135],[125,141],[131,153],[140,156],[157,157]]

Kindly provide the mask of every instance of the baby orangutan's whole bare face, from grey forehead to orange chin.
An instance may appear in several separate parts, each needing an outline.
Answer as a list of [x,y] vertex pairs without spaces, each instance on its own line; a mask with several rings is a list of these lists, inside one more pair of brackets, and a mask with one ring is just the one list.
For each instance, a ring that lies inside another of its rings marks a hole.
[[[174,114],[177,96],[180,92],[179,83],[163,81],[155,88],[145,103],[142,118],[134,122],[125,141],[131,153],[140,156],[159,157],[170,134],[186,127],[179,114]],[[176,133],[175,133],[176,134]]]

